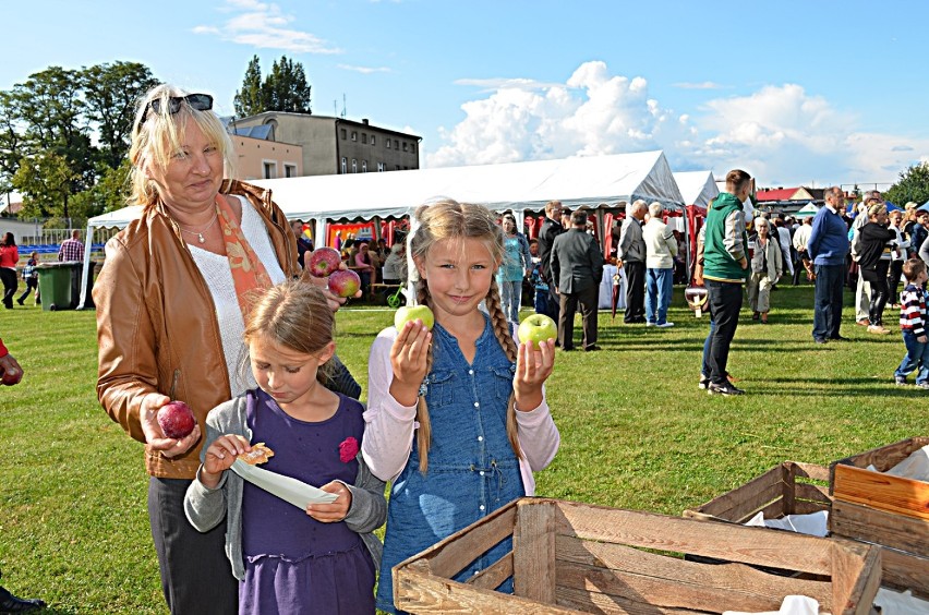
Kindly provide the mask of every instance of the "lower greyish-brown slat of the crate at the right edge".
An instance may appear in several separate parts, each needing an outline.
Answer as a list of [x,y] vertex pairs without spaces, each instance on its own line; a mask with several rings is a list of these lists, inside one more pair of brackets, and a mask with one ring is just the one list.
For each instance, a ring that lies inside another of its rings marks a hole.
[[833,534],[892,546],[929,557],[929,521],[836,499],[829,529]]

